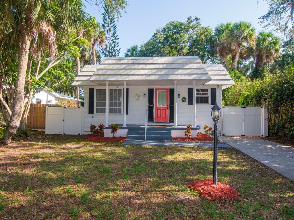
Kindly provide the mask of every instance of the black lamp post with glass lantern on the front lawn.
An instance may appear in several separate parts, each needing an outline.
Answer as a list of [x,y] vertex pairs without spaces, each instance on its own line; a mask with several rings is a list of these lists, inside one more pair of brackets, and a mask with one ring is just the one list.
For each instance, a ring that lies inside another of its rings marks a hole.
[[214,121],[214,140],[213,140],[213,184],[216,185],[217,166],[218,166],[218,121],[220,120],[220,107],[215,103],[211,108],[211,117]]

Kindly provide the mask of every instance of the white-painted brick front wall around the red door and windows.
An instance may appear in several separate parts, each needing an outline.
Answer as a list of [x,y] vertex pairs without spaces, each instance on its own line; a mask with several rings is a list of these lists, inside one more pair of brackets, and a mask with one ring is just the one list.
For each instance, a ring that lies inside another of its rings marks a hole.
[[[94,89],[105,89],[103,86],[96,87],[84,87],[84,131],[89,131],[90,124],[105,124],[105,114],[88,114],[88,92],[89,88]],[[108,87],[116,88],[116,87]],[[123,87],[118,87],[123,88]],[[128,107],[128,115],[126,116],[126,124],[144,124],[145,112],[148,108],[148,88],[154,88],[151,86],[127,86],[129,88],[129,107]],[[158,88],[158,87],[156,87]],[[173,86],[164,87],[164,88],[174,88]],[[193,86],[177,86],[177,94],[180,94],[181,97],[177,96],[177,120],[178,125],[186,125],[187,123],[193,124],[193,105],[188,105],[188,88],[193,88]],[[211,119],[211,107],[210,104],[210,88],[216,88],[216,86],[196,86],[196,89],[208,89],[209,92],[209,104],[196,104],[196,123],[200,126],[200,132],[203,132],[203,126],[208,124],[213,127],[213,121]],[[216,89],[216,97],[217,103],[221,107],[221,89]],[[143,94],[146,94],[146,98],[143,97]],[[135,100],[134,94],[139,94],[141,97],[139,100]],[[181,101],[182,97],[185,96],[187,101],[183,103]],[[123,103],[123,102],[122,102]],[[94,110],[95,112],[95,110]],[[93,116],[93,118],[92,118]],[[123,115],[113,115],[108,114],[108,125],[110,124],[123,124]],[[220,131],[221,129],[221,121],[218,123]],[[173,124],[173,123],[171,123]]]

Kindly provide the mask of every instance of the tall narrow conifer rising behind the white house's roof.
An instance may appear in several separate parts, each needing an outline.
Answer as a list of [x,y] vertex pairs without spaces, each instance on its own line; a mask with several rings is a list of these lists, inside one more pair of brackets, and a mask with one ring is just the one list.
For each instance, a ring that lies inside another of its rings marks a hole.
[[100,50],[100,53],[104,57],[118,57],[121,48],[118,48],[119,39],[116,34],[116,23],[115,23],[115,16],[109,5],[104,1],[104,12],[103,15],[103,23],[102,27],[105,31],[106,36],[106,45],[104,50]]

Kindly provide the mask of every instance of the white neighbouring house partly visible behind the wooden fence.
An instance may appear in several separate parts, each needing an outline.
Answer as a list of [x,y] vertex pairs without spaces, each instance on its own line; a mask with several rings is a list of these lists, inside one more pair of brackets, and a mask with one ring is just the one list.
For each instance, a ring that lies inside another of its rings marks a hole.
[[[71,100],[72,102],[76,102],[75,97],[67,96],[64,94],[49,92],[46,89],[42,89],[41,92],[35,94],[35,97],[32,97],[31,103],[34,104],[55,104],[57,101],[67,101]],[[83,100],[80,100],[80,103]]]

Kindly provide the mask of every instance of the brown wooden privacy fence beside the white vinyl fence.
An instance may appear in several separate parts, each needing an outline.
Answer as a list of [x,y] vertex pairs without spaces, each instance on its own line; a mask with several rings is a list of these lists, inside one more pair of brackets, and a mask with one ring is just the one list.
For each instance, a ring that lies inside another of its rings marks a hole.
[[46,106],[58,106],[52,104],[31,104],[26,128],[45,130]]

